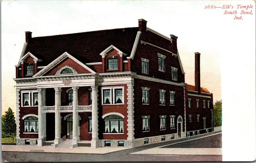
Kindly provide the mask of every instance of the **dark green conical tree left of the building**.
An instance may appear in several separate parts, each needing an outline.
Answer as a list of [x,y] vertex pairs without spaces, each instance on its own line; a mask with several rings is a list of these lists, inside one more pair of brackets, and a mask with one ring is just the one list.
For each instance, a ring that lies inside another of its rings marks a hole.
[[2,115],[2,133],[5,136],[11,137],[13,133],[16,132],[16,122],[14,117],[14,112],[9,107],[5,114]]

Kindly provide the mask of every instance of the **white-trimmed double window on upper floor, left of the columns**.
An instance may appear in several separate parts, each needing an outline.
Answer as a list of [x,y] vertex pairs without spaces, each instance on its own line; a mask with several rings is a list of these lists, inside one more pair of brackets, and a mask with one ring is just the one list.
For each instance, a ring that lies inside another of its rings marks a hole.
[[36,90],[22,90],[21,98],[22,107],[38,106],[38,92]]

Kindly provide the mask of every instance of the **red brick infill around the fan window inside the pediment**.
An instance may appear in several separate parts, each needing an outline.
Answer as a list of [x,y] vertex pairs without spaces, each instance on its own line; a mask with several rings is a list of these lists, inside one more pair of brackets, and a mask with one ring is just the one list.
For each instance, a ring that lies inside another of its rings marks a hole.
[[72,59],[70,58],[66,58],[64,61],[62,61],[60,64],[54,66],[52,68],[52,70],[50,70],[45,76],[52,76],[55,75],[56,72],[62,68],[63,66],[68,65],[71,66],[73,69],[75,69],[77,71],[78,74],[86,74],[86,73],[90,73],[88,70],[86,70],[85,68],[83,68],[81,65],[78,65],[76,62],[74,62]]

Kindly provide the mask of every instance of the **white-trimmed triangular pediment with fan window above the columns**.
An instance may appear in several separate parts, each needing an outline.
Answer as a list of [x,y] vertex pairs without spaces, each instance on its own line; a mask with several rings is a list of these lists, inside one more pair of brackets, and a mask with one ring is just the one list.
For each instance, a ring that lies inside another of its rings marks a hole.
[[96,72],[74,58],[71,54],[65,52],[33,77],[58,75],[71,76],[76,74],[96,74]]

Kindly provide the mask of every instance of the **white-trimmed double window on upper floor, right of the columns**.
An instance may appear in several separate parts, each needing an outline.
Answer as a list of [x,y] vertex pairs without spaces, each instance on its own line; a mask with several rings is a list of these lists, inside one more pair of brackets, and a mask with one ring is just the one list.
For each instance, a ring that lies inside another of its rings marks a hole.
[[122,88],[103,88],[102,89],[103,104],[123,104],[123,87]]

